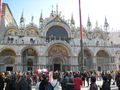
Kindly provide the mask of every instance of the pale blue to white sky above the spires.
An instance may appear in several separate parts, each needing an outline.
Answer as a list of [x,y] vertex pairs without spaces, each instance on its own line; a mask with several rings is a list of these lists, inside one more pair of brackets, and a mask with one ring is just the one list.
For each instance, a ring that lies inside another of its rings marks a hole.
[[[22,11],[24,12],[25,23],[31,21],[34,16],[35,24],[39,24],[41,12],[43,18],[50,16],[52,6],[56,10],[61,11],[65,19],[71,19],[71,15],[75,19],[76,26],[79,26],[79,0],[3,0],[8,3],[17,24],[19,25]],[[103,28],[105,17],[111,30],[120,30],[120,0],[81,0],[82,24],[87,25],[88,16],[94,28],[96,21],[98,26]]]

